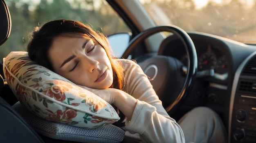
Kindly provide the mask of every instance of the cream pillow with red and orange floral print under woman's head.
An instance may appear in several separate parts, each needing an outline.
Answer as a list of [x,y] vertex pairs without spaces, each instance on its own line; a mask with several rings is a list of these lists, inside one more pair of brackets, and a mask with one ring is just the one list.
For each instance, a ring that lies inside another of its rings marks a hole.
[[16,98],[43,119],[83,128],[97,128],[120,119],[108,102],[37,65],[27,52],[11,52],[3,58],[3,68]]

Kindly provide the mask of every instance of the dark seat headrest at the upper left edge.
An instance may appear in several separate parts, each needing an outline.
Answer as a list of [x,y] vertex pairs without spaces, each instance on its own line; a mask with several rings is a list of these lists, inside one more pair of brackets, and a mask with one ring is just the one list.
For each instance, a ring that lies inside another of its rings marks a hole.
[[11,32],[11,15],[4,0],[0,2],[0,20],[0,45],[2,45]]

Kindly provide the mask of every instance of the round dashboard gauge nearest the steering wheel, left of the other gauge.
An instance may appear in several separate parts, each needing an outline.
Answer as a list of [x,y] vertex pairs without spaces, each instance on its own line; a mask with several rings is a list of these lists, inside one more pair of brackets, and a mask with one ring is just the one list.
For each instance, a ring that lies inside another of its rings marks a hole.
[[204,52],[198,61],[198,69],[214,69],[217,64],[216,55],[213,52]]

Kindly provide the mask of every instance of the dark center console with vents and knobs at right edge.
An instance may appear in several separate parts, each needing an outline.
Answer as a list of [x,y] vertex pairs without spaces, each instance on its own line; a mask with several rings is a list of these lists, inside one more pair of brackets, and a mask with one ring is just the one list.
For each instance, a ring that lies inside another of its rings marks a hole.
[[238,67],[231,91],[229,143],[256,143],[256,53]]

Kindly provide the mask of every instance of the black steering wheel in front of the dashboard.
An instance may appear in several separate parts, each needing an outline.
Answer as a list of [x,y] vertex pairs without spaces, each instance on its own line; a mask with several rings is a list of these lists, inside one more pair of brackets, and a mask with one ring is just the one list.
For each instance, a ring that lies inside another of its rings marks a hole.
[[[173,113],[178,107],[180,107],[182,101],[184,101],[186,95],[192,88],[197,72],[197,53],[195,45],[189,35],[184,30],[174,25],[148,28],[139,33],[129,42],[128,48],[122,57],[128,58],[141,41],[144,41],[144,39],[157,32],[164,31],[172,32],[181,39],[188,56],[187,67],[176,58],[159,54],[138,64],[149,77],[149,80],[159,99],[162,101],[166,112]],[[186,73],[184,73],[184,71]]]

